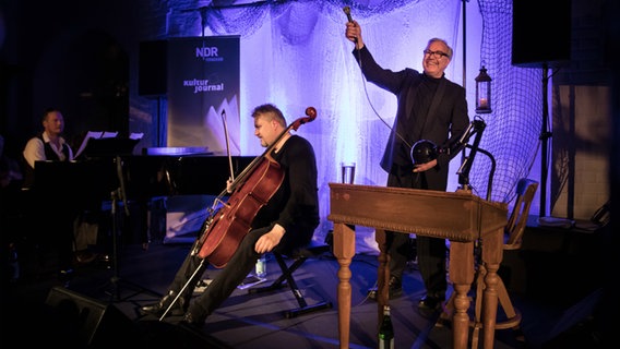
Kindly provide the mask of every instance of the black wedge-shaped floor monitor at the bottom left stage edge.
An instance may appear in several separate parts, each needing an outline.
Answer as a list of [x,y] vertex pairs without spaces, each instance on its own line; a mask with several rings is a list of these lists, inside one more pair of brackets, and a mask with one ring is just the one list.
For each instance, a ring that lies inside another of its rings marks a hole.
[[48,322],[62,324],[64,339],[73,345],[110,348],[118,346],[121,338],[124,344],[136,338],[133,322],[114,305],[63,287],[52,288],[46,304],[53,310]]

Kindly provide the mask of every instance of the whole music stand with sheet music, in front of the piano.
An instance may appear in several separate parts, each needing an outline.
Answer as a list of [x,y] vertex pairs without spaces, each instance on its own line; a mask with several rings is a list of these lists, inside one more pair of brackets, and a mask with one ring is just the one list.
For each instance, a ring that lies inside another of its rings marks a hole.
[[133,290],[136,290],[135,293],[128,296],[126,299],[132,298],[136,294],[142,292],[148,292],[156,297],[162,297],[158,292],[153,290],[146,289],[140,285],[134,282],[127,281],[122,279],[119,275],[119,221],[118,221],[118,207],[119,207],[119,200],[123,203],[124,214],[129,217],[129,205],[127,203],[127,190],[126,190],[126,180],[124,180],[124,171],[122,167],[122,158],[121,156],[132,155],[133,148],[140,142],[140,140],[132,140],[132,139],[96,139],[90,140],[86,148],[84,149],[84,155],[86,158],[109,158],[114,157],[114,161],[116,164],[116,174],[118,178],[119,186],[111,191],[110,200],[111,200],[111,225],[112,225],[112,276],[110,278],[110,284],[112,286],[112,290],[109,292],[111,297],[111,301],[115,299],[117,301],[122,301],[123,299],[120,298],[120,287],[124,285]]

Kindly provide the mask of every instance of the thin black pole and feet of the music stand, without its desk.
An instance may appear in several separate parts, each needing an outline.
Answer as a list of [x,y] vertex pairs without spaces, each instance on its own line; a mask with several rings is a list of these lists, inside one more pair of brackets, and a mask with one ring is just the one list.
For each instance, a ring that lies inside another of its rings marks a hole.
[[116,156],[116,166],[117,166],[117,176],[118,176],[118,180],[119,180],[119,188],[117,188],[116,190],[114,190],[110,193],[110,198],[111,198],[111,217],[112,217],[112,276],[110,278],[110,284],[112,286],[112,290],[109,292],[109,296],[111,297],[111,301],[114,301],[115,299],[117,301],[122,301],[123,299],[120,298],[120,285],[121,282],[123,282],[126,286],[129,286],[131,289],[133,290],[138,290],[135,293],[128,296],[124,300],[132,298],[134,296],[138,296],[142,292],[147,292],[151,294],[154,294],[156,297],[162,297],[160,293],[155,292],[153,290],[148,290],[142,286],[139,286],[136,284],[123,280],[120,278],[119,276],[119,241],[118,241],[118,236],[119,236],[119,221],[118,221],[118,201],[121,200],[122,204],[123,204],[123,208],[124,208],[124,215],[127,217],[129,217],[129,205],[127,203],[127,191],[126,191],[126,185],[124,185],[124,176],[123,176],[123,170],[122,170],[122,159],[120,156]]

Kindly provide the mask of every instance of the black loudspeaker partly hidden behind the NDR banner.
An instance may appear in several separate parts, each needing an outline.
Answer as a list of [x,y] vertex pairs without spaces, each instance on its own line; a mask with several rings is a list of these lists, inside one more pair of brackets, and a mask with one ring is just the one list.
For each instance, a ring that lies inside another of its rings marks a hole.
[[165,95],[168,92],[168,43],[140,43],[138,62],[138,94]]

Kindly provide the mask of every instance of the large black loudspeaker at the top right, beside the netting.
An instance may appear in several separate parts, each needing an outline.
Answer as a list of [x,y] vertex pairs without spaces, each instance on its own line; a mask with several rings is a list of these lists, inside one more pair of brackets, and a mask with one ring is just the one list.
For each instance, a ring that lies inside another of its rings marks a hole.
[[571,59],[571,0],[512,2],[512,64],[558,67]]

